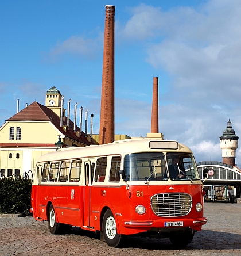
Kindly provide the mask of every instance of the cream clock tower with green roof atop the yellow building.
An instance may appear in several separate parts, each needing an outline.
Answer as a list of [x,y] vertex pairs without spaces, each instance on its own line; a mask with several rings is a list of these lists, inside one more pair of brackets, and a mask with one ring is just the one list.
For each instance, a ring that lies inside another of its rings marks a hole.
[[46,92],[45,106],[53,110],[59,117],[61,112],[61,93],[55,86]]

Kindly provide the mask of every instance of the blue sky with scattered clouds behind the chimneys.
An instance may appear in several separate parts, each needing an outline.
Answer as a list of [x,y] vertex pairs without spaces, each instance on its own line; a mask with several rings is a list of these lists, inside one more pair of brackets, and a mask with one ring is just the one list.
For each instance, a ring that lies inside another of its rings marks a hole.
[[[16,113],[17,99],[20,110],[44,105],[55,86],[65,108],[71,98],[72,119],[78,102],[99,133],[108,4],[116,6],[115,133],[150,132],[159,77],[164,139],[189,146],[197,162],[221,161],[228,119],[241,136],[239,0],[0,1],[0,124]],[[236,162],[241,167],[241,146]]]

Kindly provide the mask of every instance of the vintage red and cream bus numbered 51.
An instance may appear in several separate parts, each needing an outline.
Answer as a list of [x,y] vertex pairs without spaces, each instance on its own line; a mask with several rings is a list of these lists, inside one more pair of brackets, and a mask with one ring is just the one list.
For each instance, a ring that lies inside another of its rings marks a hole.
[[192,151],[176,141],[139,138],[65,148],[38,159],[31,212],[52,234],[72,226],[100,232],[116,247],[128,235],[189,244],[207,222]]

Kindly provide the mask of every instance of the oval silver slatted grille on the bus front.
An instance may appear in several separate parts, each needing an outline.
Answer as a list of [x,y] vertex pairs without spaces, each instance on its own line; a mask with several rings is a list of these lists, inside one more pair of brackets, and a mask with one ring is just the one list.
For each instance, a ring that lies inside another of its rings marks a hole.
[[185,193],[155,194],[151,208],[160,217],[184,216],[191,211],[192,197]]

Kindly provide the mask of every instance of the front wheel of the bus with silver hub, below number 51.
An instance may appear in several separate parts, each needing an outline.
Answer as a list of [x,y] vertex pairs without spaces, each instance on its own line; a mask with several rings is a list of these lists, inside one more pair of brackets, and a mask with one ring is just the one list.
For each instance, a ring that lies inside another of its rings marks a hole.
[[104,213],[102,231],[108,246],[117,247],[119,245],[122,235],[117,233],[116,221],[110,209]]

